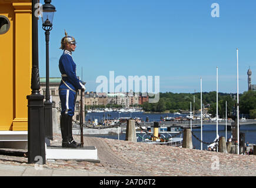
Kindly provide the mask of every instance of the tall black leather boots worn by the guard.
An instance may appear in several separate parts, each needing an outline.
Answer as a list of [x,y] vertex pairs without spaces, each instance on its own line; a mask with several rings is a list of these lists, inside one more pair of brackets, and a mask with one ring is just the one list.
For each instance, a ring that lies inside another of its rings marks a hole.
[[[71,138],[69,137],[69,119],[71,116],[67,114],[61,115],[61,136],[62,136],[62,147],[69,147],[69,148],[77,148],[75,143],[72,143]],[[72,117],[71,117],[72,120]],[[72,127],[71,127],[71,134],[72,134]]]

